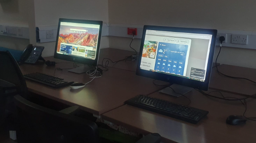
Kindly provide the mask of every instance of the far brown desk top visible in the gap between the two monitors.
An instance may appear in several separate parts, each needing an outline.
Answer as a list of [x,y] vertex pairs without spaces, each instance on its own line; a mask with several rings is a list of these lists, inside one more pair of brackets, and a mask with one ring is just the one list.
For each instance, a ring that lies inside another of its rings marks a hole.
[[[134,51],[126,51],[126,50],[120,50],[120,49],[114,49],[114,48],[103,48],[100,50],[98,64],[105,65],[105,62],[108,59],[104,59],[104,61],[102,63],[103,58],[110,58],[113,62],[115,62],[115,61],[124,59],[125,56],[131,56],[134,53],[135,53]],[[125,70],[136,72],[137,62],[138,62],[138,60],[134,60],[134,61],[128,61],[128,60],[124,61],[123,60],[123,61],[118,62],[117,64],[113,64],[109,60],[108,66],[117,68],[117,69],[125,69]]]

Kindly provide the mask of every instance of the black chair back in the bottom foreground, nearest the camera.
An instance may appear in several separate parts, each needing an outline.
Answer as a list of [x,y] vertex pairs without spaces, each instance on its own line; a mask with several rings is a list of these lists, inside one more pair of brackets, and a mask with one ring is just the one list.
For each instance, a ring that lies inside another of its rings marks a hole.
[[98,127],[86,119],[54,111],[14,96],[18,143],[98,143]]

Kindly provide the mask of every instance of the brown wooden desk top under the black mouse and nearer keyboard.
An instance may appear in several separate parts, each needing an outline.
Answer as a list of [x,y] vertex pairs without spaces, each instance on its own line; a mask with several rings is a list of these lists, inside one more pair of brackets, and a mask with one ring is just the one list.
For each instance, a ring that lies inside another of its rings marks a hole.
[[[218,95],[218,93],[212,93],[212,95]],[[229,93],[224,95],[232,96]],[[159,92],[149,96],[183,105],[188,103],[183,96],[176,98]],[[129,105],[109,111],[103,114],[102,118],[143,134],[157,132],[162,136],[164,143],[255,143],[255,121],[248,120],[246,124],[237,126],[226,124],[229,115],[243,115],[245,106],[240,101],[216,100],[196,90],[186,96],[192,101],[189,106],[209,111],[207,117],[198,124],[191,124]],[[256,99],[248,99],[247,103],[245,115],[256,117]]]

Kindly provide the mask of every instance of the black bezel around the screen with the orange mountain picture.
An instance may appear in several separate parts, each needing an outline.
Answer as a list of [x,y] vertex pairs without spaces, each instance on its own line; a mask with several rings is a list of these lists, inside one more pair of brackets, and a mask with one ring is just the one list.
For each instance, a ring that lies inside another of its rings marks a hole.
[[[60,23],[61,22],[73,22],[73,23],[85,23],[85,24],[97,24],[100,25],[99,28],[99,33],[98,33],[98,43],[97,43],[97,48],[96,48],[96,58],[95,60],[89,59],[89,58],[81,58],[77,56],[72,56],[72,55],[63,55],[57,53],[57,46],[58,46],[58,40],[59,40],[59,31],[60,31]],[[101,41],[101,33],[102,33],[102,21],[91,21],[91,20],[78,20],[78,19],[65,19],[65,18],[60,18],[59,23],[58,23],[58,30],[57,30],[57,39],[56,39],[56,45],[55,45],[55,51],[54,51],[54,58],[58,59],[63,59],[66,61],[71,61],[75,63],[80,63],[80,64],[88,64],[91,66],[97,66],[98,63],[98,56],[100,52],[100,41]]]

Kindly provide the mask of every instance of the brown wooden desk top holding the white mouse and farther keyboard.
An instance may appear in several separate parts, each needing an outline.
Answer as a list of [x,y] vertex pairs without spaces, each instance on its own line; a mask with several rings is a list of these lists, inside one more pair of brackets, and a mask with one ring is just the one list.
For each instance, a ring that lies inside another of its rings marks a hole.
[[[46,60],[67,62],[53,57]],[[53,75],[55,68],[73,68],[73,63],[60,63],[56,66],[46,66],[46,64],[23,64],[20,66],[23,74],[40,72]],[[91,80],[87,74],[75,74],[68,70],[56,70],[56,77],[67,81],[87,83]],[[30,80],[26,80],[28,90],[55,101],[68,105],[78,105],[82,110],[101,115],[124,105],[128,99],[139,94],[150,94],[161,88],[153,84],[153,79],[137,76],[134,72],[109,68],[103,72],[101,78],[91,81],[85,88],[71,90],[69,86],[54,89]],[[167,84],[162,82],[161,84]]]

